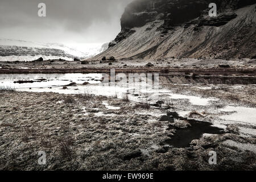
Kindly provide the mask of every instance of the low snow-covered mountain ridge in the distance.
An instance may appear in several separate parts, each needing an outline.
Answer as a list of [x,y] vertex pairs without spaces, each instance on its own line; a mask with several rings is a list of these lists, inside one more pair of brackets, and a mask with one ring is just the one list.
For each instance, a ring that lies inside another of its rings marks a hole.
[[[74,48],[75,47],[75,48]],[[88,58],[105,51],[106,44],[82,44],[68,47],[57,43],[28,42],[24,40],[0,39],[0,61],[32,61],[43,57],[65,59]]]

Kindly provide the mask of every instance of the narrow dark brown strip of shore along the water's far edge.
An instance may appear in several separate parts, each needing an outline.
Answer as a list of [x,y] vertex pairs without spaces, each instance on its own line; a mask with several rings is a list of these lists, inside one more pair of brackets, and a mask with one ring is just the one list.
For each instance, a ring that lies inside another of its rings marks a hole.
[[[159,76],[198,74],[201,76],[248,76],[256,77],[256,68],[226,68],[226,69],[186,69],[186,68],[28,68],[0,69],[0,74],[30,74],[30,73],[159,73]],[[210,74],[210,75],[209,75]],[[198,76],[197,75],[197,76]]]

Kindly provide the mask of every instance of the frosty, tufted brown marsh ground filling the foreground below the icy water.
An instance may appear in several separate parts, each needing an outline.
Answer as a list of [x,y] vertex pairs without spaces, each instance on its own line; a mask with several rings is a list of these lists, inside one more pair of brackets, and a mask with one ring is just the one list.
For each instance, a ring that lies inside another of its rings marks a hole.
[[[189,119],[211,122],[220,115],[191,110],[177,118],[188,104],[185,100],[156,107],[88,94],[2,90],[0,97],[1,169],[256,169],[255,125],[225,123],[225,129],[191,138],[187,146],[168,145],[179,131],[193,126]],[[172,119],[161,119],[164,115]],[[209,126],[204,127],[207,133]],[[240,128],[253,133],[242,133]],[[45,166],[38,164],[38,151],[47,154]],[[209,165],[209,151],[217,152],[217,165]]]

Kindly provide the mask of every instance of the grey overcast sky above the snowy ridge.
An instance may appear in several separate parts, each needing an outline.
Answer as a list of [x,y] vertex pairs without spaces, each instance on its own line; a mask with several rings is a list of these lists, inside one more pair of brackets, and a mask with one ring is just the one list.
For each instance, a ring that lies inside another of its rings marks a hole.
[[[49,43],[106,43],[119,33],[133,0],[1,0],[0,38]],[[46,17],[38,4],[46,3]]]

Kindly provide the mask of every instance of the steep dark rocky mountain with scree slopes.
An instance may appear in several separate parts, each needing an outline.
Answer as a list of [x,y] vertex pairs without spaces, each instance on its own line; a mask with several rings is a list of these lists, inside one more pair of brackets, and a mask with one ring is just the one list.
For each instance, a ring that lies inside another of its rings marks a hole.
[[117,59],[255,57],[254,0],[135,0],[121,17],[121,32],[93,57]]

